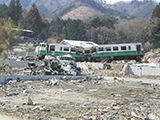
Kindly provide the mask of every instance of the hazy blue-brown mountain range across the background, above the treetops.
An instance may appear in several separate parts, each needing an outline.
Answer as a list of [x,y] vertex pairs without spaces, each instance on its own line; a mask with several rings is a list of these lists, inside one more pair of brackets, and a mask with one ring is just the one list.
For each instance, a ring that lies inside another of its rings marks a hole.
[[[9,5],[9,2],[10,0],[0,0],[0,4]],[[106,10],[109,10],[109,14],[112,14],[111,11],[117,10],[125,14],[135,15],[137,17],[149,19],[151,17],[153,9],[157,5],[157,3],[153,2],[152,0],[132,0],[130,2],[117,2],[114,4],[105,4],[106,0],[20,0],[20,3],[22,5],[22,8],[26,10],[29,10],[31,5],[35,3],[37,5],[37,8],[41,11],[41,13],[45,14],[46,17],[50,19],[56,18],[57,16],[64,18],[80,17],[80,19],[82,19],[84,17],[91,17],[91,15],[89,15],[89,12],[92,12],[92,14],[106,14],[102,12],[104,8],[107,8]],[[104,8],[100,7],[101,5],[103,5]],[[81,6],[84,6],[85,9],[82,9]],[[111,10],[108,8],[110,8]],[[65,12],[65,10],[67,11]],[[80,15],[74,16],[74,13],[77,11],[83,17]],[[84,11],[86,11],[86,13],[88,12],[88,14],[85,15]],[[115,15],[115,13],[113,15]]]

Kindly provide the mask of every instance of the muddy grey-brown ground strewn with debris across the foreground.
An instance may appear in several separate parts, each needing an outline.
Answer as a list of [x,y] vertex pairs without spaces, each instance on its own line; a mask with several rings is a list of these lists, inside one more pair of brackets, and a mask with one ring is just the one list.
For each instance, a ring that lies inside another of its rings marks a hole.
[[[0,84],[0,117],[6,120],[160,119],[160,85],[117,79],[139,76],[123,76],[124,64],[110,65],[111,69],[82,73],[101,76],[97,79],[11,80]],[[106,80],[104,76],[113,78]]]

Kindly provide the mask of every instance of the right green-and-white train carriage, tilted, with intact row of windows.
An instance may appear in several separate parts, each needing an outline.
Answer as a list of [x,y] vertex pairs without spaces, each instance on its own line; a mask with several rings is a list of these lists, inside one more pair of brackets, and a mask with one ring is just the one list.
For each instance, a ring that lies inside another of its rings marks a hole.
[[99,45],[92,52],[91,59],[99,61],[107,60],[123,60],[135,59],[137,61],[144,55],[142,43],[127,43],[127,44],[107,44]]

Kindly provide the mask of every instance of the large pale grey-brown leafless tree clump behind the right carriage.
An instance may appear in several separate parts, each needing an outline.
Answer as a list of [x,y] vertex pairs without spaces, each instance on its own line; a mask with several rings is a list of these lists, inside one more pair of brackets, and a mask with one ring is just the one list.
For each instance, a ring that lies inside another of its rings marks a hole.
[[117,40],[121,42],[142,42],[148,20],[137,18],[132,20],[119,20],[115,24]]

